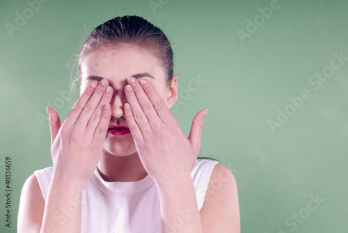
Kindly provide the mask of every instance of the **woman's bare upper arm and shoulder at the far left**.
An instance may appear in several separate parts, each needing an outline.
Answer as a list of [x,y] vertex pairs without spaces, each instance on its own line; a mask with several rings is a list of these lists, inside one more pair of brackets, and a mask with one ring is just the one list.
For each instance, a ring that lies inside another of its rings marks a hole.
[[36,175],[31,175],[23,185],[19,200],[17,232],[40,232],[45,200]]

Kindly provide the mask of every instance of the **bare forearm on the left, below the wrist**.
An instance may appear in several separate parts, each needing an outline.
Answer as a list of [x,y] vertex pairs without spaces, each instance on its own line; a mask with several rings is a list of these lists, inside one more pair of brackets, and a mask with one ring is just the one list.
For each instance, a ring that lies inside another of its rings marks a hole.
[[71,180],[52,177],[49,185],[41,233],[81,232],[83,187]]

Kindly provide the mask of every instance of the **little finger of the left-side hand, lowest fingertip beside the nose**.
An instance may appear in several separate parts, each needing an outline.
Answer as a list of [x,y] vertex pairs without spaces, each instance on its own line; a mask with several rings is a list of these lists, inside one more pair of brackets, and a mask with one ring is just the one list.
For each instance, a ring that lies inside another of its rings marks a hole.
[[111,106],[109,103],[104,104],[102,110],[102,118],[95,128],[95,133],[93,135],[93,143],[96,145],[102,145],[105,140],[107,129],[109,128],[109,122],[111,118]]

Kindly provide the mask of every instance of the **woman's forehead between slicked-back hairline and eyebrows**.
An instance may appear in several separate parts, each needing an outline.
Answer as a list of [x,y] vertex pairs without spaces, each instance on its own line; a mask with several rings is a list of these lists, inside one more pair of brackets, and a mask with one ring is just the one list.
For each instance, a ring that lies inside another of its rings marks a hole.
[[95,76],[122,82],[132,74],[148,73],[157,81],[166,77],[159,59],[147,49],[132,45],[109,45],[90,52],[81,62],[81,81]]

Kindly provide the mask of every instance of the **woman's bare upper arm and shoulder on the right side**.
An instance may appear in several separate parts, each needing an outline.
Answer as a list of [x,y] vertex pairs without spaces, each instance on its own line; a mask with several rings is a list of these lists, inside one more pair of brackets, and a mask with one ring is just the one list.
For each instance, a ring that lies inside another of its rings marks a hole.
[[212,170],[200,219],[203,232],[240,232],[237,182],[219,163]]

